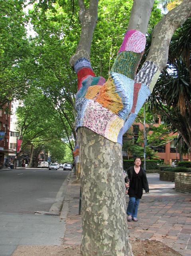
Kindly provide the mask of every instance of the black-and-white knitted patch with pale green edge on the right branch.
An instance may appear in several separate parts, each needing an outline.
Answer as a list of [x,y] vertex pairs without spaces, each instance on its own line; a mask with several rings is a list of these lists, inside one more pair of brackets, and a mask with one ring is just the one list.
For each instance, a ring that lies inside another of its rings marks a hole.
[[153,61],[147,60],[135,77],[135,83],[146,84],[152,92],[159,77],[159,70]]

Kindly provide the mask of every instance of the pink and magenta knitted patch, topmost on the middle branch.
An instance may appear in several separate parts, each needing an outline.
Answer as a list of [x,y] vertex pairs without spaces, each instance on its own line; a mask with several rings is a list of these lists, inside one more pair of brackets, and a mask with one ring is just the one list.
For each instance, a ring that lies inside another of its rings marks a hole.
[[138,30],[128,30],[124,36],[118,53],[122,51],[143,52],[146,44],[146,36]]

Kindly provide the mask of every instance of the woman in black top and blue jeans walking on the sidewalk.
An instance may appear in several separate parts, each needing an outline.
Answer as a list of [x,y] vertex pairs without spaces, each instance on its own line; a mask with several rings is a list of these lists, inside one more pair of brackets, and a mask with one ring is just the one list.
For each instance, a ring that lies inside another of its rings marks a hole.
[[139,201],[143,194],[143,189],[146,193],[149,192],[146,172],[140,165],[141,159],[140,157],[136,157],[134,159],[134,166],[127,170],[128,177],[126,177],[126,180],[130,180],[130,186],[128,189],[129,203],[127,207],[128,221],[138,221],[137,212]]

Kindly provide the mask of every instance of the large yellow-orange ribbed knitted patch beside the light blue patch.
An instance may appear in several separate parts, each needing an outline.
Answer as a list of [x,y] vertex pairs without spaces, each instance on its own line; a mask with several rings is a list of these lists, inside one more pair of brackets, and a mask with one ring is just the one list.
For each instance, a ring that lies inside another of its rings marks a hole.
[[111,77],[109,77],[107,82],[100,88],[100,93],[96,101],[114,114],[118,114],[118,112],[122,110],[123,104],[120,96],[115,91],[114,80]]

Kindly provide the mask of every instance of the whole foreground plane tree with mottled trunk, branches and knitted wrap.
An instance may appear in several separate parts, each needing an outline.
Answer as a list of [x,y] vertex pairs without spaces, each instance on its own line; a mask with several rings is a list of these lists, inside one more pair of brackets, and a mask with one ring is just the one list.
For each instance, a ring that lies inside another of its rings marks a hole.
[[[191,16],[191,2],[185,0],[158,22],[146,62],[134,76],[144,50],[144,35],[153,4],[154,0],[134,0],[124,41],[110,76],[104,82],[102,77],[95,77],[89,62],[98,1],[90,0],[87,5],[87,1],[79,0],[81,38],[70,64],[79,81],[76,127],[80,149],[83,256],[133,255],[125,212],[122,134],[134,121],[166,66],[174,31]],[[142,92],[141,88],[144,88]]]

